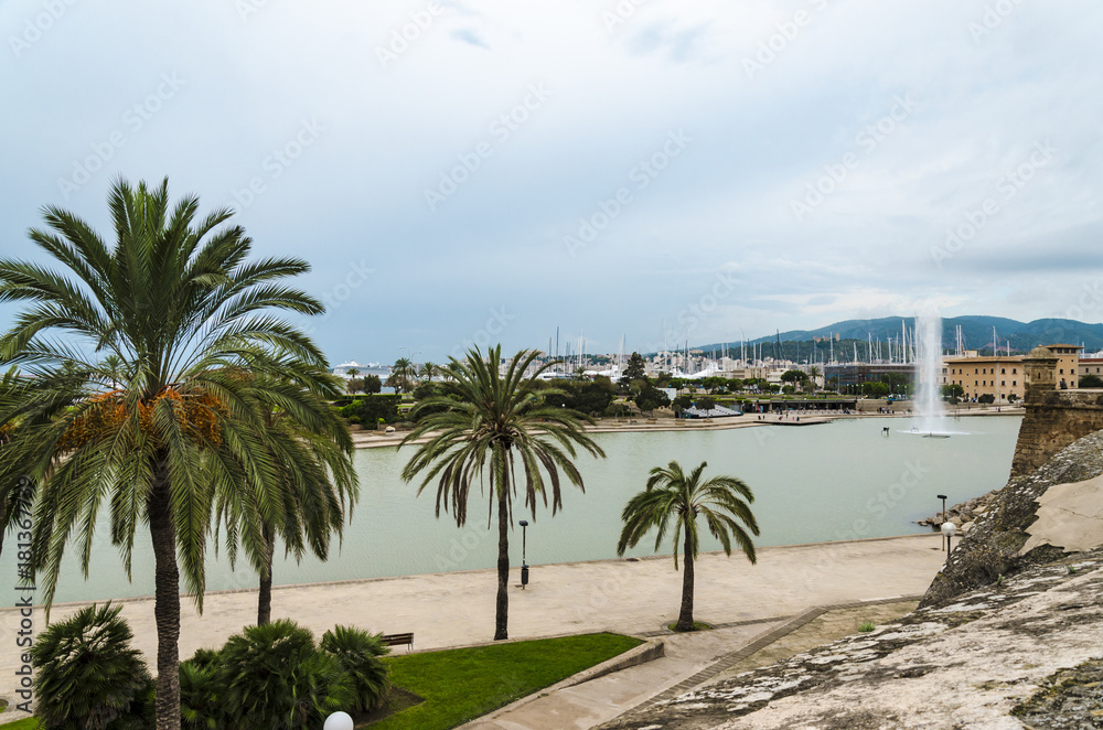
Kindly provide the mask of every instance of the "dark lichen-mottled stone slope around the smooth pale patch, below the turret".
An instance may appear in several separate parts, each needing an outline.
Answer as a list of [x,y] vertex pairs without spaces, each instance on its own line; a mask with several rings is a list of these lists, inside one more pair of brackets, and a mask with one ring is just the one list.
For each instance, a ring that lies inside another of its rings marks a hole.
[[1031,474],[1013,476],[960,538],[920,605],[945,603],[965,591],[992,584],[1000,576],[1061,559],[1064,551],[1052,545],[1040,545],[1020,555],[1030,537],[1027,529],[1037,519],[1037,500],[1056,484],[1082,482],[1101,474],[1103,432],[1096,432],[1065,447]]

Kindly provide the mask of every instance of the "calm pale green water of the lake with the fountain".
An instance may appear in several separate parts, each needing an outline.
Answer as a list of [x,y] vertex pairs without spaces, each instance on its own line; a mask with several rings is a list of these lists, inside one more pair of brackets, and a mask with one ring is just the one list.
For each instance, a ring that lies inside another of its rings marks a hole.
[[[754,493],[752,505],[761,527],[756,545],[792,545],[856,537],[922,532],[915,520],[940,508],[936,494],[950,504],[1003,486],[1010,470],[1019,418],[962,418],[954,430],[968,436],[925,439],[910,436],[906,419],[845,420],[807,427],[763,427],[730,431],[601,433],[596,438],[608,458],[580,460],[585,494],[568,486],[564,508],[555,517],[539,509],[527,518],[529,565],[615,557],[620,513],[643,489],[647,471],[676,459],[688,471],[703,460],[708,474],[742,479]],[[889,438],[881,429],[889,426]],[[277,562],[278,584],[351,578],[403,576],[492,568],[496,559],[496,524],[486,529],[488,497],[473,495],[463,529],[450,515],[433,516],[435,492],[415,497],[416,485],[398,479],[413,448],[362,449],[356,453],[361,502],[346,527],[344,545],[329,562],[313,558],[301,565]],[[152,551],[148,536],[135,548],[133,582],[127,582],[109,530],[97,532],[92,577],[85,581],[75,561],[67,562],[58,601],[99,600],[152,593]],[[521,528],[511,538],[513,562],[521,565]],[[9,538],[11,540],[11,538]],[[646,538],[631,555],[651,555]],[[720,549],[707,533],[703,549]],[[670,549],[663,546],[663,552]],[[0,559],[0,583],[14,584],[14,550],[7,541]],[[208,557],[207,589],[250,588],[256,575],[224,557]],[[14,592],[3,589],[3,605]],[[3,592],[0,591],[0,592]]]

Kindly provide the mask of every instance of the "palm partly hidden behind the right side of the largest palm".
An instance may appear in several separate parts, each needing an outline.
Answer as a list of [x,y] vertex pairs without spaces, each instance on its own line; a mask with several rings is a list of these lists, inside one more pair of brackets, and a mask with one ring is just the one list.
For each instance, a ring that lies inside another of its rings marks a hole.
[[[345,516],[352,515],[360,494],[352,436],[329,405],[341,396],[341,378],[295,358],[280,362],[279,377],[243,375],[254,380],[245,395],[256,401],[264,419],[265,448],[280,469],[261,474],[260,481],[226,480],[223,484],[229,489],[216,495],[215,523],[225,527],[232,563],[239,533],[259,529],[259,535],[244,540],[249,562],[260,577],[258,625],[271,620],[276,539],[296,560],[308,548],[325,560],[331,536],[341,537]],[[270,498],[274,494],[277,500]],[[260,549],[248,549],[255,545]]]

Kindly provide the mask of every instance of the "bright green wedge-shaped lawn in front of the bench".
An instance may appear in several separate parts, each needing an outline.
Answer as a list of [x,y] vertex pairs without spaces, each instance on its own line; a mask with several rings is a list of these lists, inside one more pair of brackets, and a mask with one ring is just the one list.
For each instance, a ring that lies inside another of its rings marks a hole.
[[390,681],[425,702],[372,730],[447,730],[639,646],[619,634],[587,634],[515,644],[384,657]]

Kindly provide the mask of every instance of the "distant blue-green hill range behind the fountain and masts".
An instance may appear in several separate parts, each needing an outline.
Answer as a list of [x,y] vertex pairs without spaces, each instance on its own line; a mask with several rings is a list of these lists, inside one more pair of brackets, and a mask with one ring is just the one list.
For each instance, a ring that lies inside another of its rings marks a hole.
[[[900,336],[901,322],[908,326],[909,333],[915,328],[913,316],[884,316],[876,320],[845,320],[822,326],[817,330],[790,330],[781,333],[781,341],[785,342],[808,342],[813,337],[828,337],[837,335],[840,341],[857,341],[865,343],[869,337],[876,342],[887,341],[889,337]],[[978,350],[981,352],[992,352],[992,329],[996,328],[996,337],[1000,350],[1010,342],[1013,352],[1029,352],[1038,345],[1057,343],[1069,343],[1086,347],[1088,352],[1099,352],[1103,350],[1103,324],[1088,324],[1075,320],[1046,319],[1034,322],[1019,322],[1003,316],[951,316],[942,320],[942,346],[951,348],[955,342],[955,330],[962,326],[965,336],[966,350]],[[774,343],[778,335],[759,337],[749,343]],[[727,343],[729,350],[735,344],[739,346],[739,341]],[[700,350],[718,350],[721,343],[713,343],[699,346]],[[849,345],[847,345],[849,346]],[[785,347],[789,350],[789,347]]]

